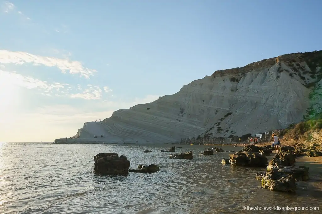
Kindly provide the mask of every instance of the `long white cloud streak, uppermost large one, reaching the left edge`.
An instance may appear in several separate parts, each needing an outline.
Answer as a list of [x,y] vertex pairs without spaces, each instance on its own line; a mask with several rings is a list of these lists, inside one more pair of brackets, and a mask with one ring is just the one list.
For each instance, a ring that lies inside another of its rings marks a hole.
[[34,65],[42,64],[48,67],[57,67],[62,71],[62,73],[69,70],[69,73],[80,74],[80,76],[83,76],[85,78],[89,78],[90,76],[93,76],[95,72],[97,72],[94,69],[83,67],[81,62],[78,61],[59,59],[55,57],[38,56],[19,51],[13,52],[8,50],[0,50],[0,63],[33,63]]

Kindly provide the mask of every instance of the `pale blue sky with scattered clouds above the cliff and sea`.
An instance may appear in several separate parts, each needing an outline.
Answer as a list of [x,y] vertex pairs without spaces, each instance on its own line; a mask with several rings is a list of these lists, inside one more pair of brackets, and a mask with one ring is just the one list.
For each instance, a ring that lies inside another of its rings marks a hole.
[[316,0],[0,0],[0,141],[70,137],[216,70],[321,50],[321,8]]

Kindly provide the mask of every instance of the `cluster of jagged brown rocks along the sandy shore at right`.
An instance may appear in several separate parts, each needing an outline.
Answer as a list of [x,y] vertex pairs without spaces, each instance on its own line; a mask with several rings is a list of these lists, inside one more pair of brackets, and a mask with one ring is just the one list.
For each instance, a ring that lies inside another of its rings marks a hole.
[[275,154],[268,163],[267,156],[270,156],[271,145],[256,146],[246,145],[244,149],[230,158],[223,158],[223,164],[248,167],[267,167],[266,172],[259,172],[255,175],[261,181],[261,188],[271,191],[296,193],[297,182],[305,182],[310,179],[309,167],[304,165],[295,166],[296,158],[302,156],[321,157],[322,151],[318,144],[306,146],[303,143],[293,143],[293,146],[282,146],[280,152]]

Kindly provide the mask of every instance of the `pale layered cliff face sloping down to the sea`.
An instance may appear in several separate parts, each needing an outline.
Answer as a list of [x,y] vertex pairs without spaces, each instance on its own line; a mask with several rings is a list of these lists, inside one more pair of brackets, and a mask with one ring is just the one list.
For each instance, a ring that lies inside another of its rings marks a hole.
[[319,113],[321,67],[322,51],[316,51],[216,71],[173,95],[115,111],[102,123],[85,123],[75,136],[168,143],[286,128]]

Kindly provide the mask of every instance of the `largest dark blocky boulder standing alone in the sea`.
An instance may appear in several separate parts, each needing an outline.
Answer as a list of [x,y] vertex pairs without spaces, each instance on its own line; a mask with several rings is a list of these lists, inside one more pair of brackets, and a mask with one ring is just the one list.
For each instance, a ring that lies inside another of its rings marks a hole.
[[94,171],[106,175],[128,174],[130,161],[126,156],[118,157],[117,153],[99,153],[95,157]]

